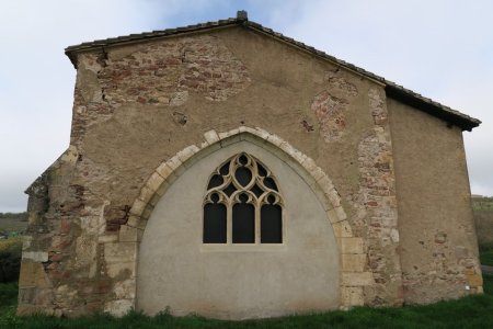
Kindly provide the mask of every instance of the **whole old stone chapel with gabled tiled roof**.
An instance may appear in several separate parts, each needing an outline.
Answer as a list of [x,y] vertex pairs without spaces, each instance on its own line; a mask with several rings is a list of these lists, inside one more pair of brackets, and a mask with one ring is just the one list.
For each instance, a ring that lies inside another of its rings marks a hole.
[[274,317],[482,293],[481,123],[234,19],[70,46],[70,145],[27,189],[21,315]]

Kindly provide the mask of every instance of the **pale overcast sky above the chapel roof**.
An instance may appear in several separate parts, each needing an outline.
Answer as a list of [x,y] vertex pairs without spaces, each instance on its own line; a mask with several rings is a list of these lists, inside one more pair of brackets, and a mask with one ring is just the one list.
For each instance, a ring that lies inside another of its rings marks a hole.
[[64,48],[236,16],[314,46],[483,123],[465,132],[472,193],[493,195],[493,1],[2,0],[0,212],[69,145],[76,70]]

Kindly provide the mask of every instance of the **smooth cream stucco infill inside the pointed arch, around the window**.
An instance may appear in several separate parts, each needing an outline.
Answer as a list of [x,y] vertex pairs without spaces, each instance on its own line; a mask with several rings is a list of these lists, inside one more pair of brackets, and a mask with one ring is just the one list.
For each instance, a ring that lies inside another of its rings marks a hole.
[[[207,180],[240,151],[260,159],[279,182],[283,245],[202,243]],[[137,308],[232,319],[332,309],[340,305],[339,263],[330,220],[312,190],[277,156],[242,140],[195,162],[154,207],[139,250]]]

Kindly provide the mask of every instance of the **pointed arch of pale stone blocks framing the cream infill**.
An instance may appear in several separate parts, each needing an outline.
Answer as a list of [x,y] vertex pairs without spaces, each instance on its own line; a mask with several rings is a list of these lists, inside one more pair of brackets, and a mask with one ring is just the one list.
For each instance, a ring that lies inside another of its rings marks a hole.
[[[122,226],[118,237],[119,242],[135,243],[134,273],[138,261],[138,246],[147,220],[169,186],[187,168],[200,159],[222,147],[246,140],[266,148],[279,157],[305,180],[317,195],[339,243],[341,308],[363,305],[363,287],[372,283],[371,273],[364,272],[366,254],[364,253],[363,239],[354,237],[346,213],[341,204],[341,196],[325,172],[311,158],[295,149],[289,143],[259,127],[240,126],[225,133],[209,131],[204,134],[204,137],[205,141],[200,146],[191,145],[179,151],[174,157],[163,161],[149,177],[141,188],[139,196],[135,200],[128,222]],[[130,290],[134,291],[130,294],[133,299],[127,298],[124,303],[128,308],[135,307],[135,277]],[[118,302],[122,300],[113,300],[112,303],[118,304]],[[108,309],[112,308],[108,307]],[[119,309],[119,313],[123,310]]]

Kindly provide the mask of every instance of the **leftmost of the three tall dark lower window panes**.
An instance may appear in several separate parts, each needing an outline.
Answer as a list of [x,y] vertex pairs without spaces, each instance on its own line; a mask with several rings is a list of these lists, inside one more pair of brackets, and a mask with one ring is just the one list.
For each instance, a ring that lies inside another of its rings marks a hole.
[[223,204],[208,203],[204,206],[203,241],[204,243],[226,243],[226,206]]

